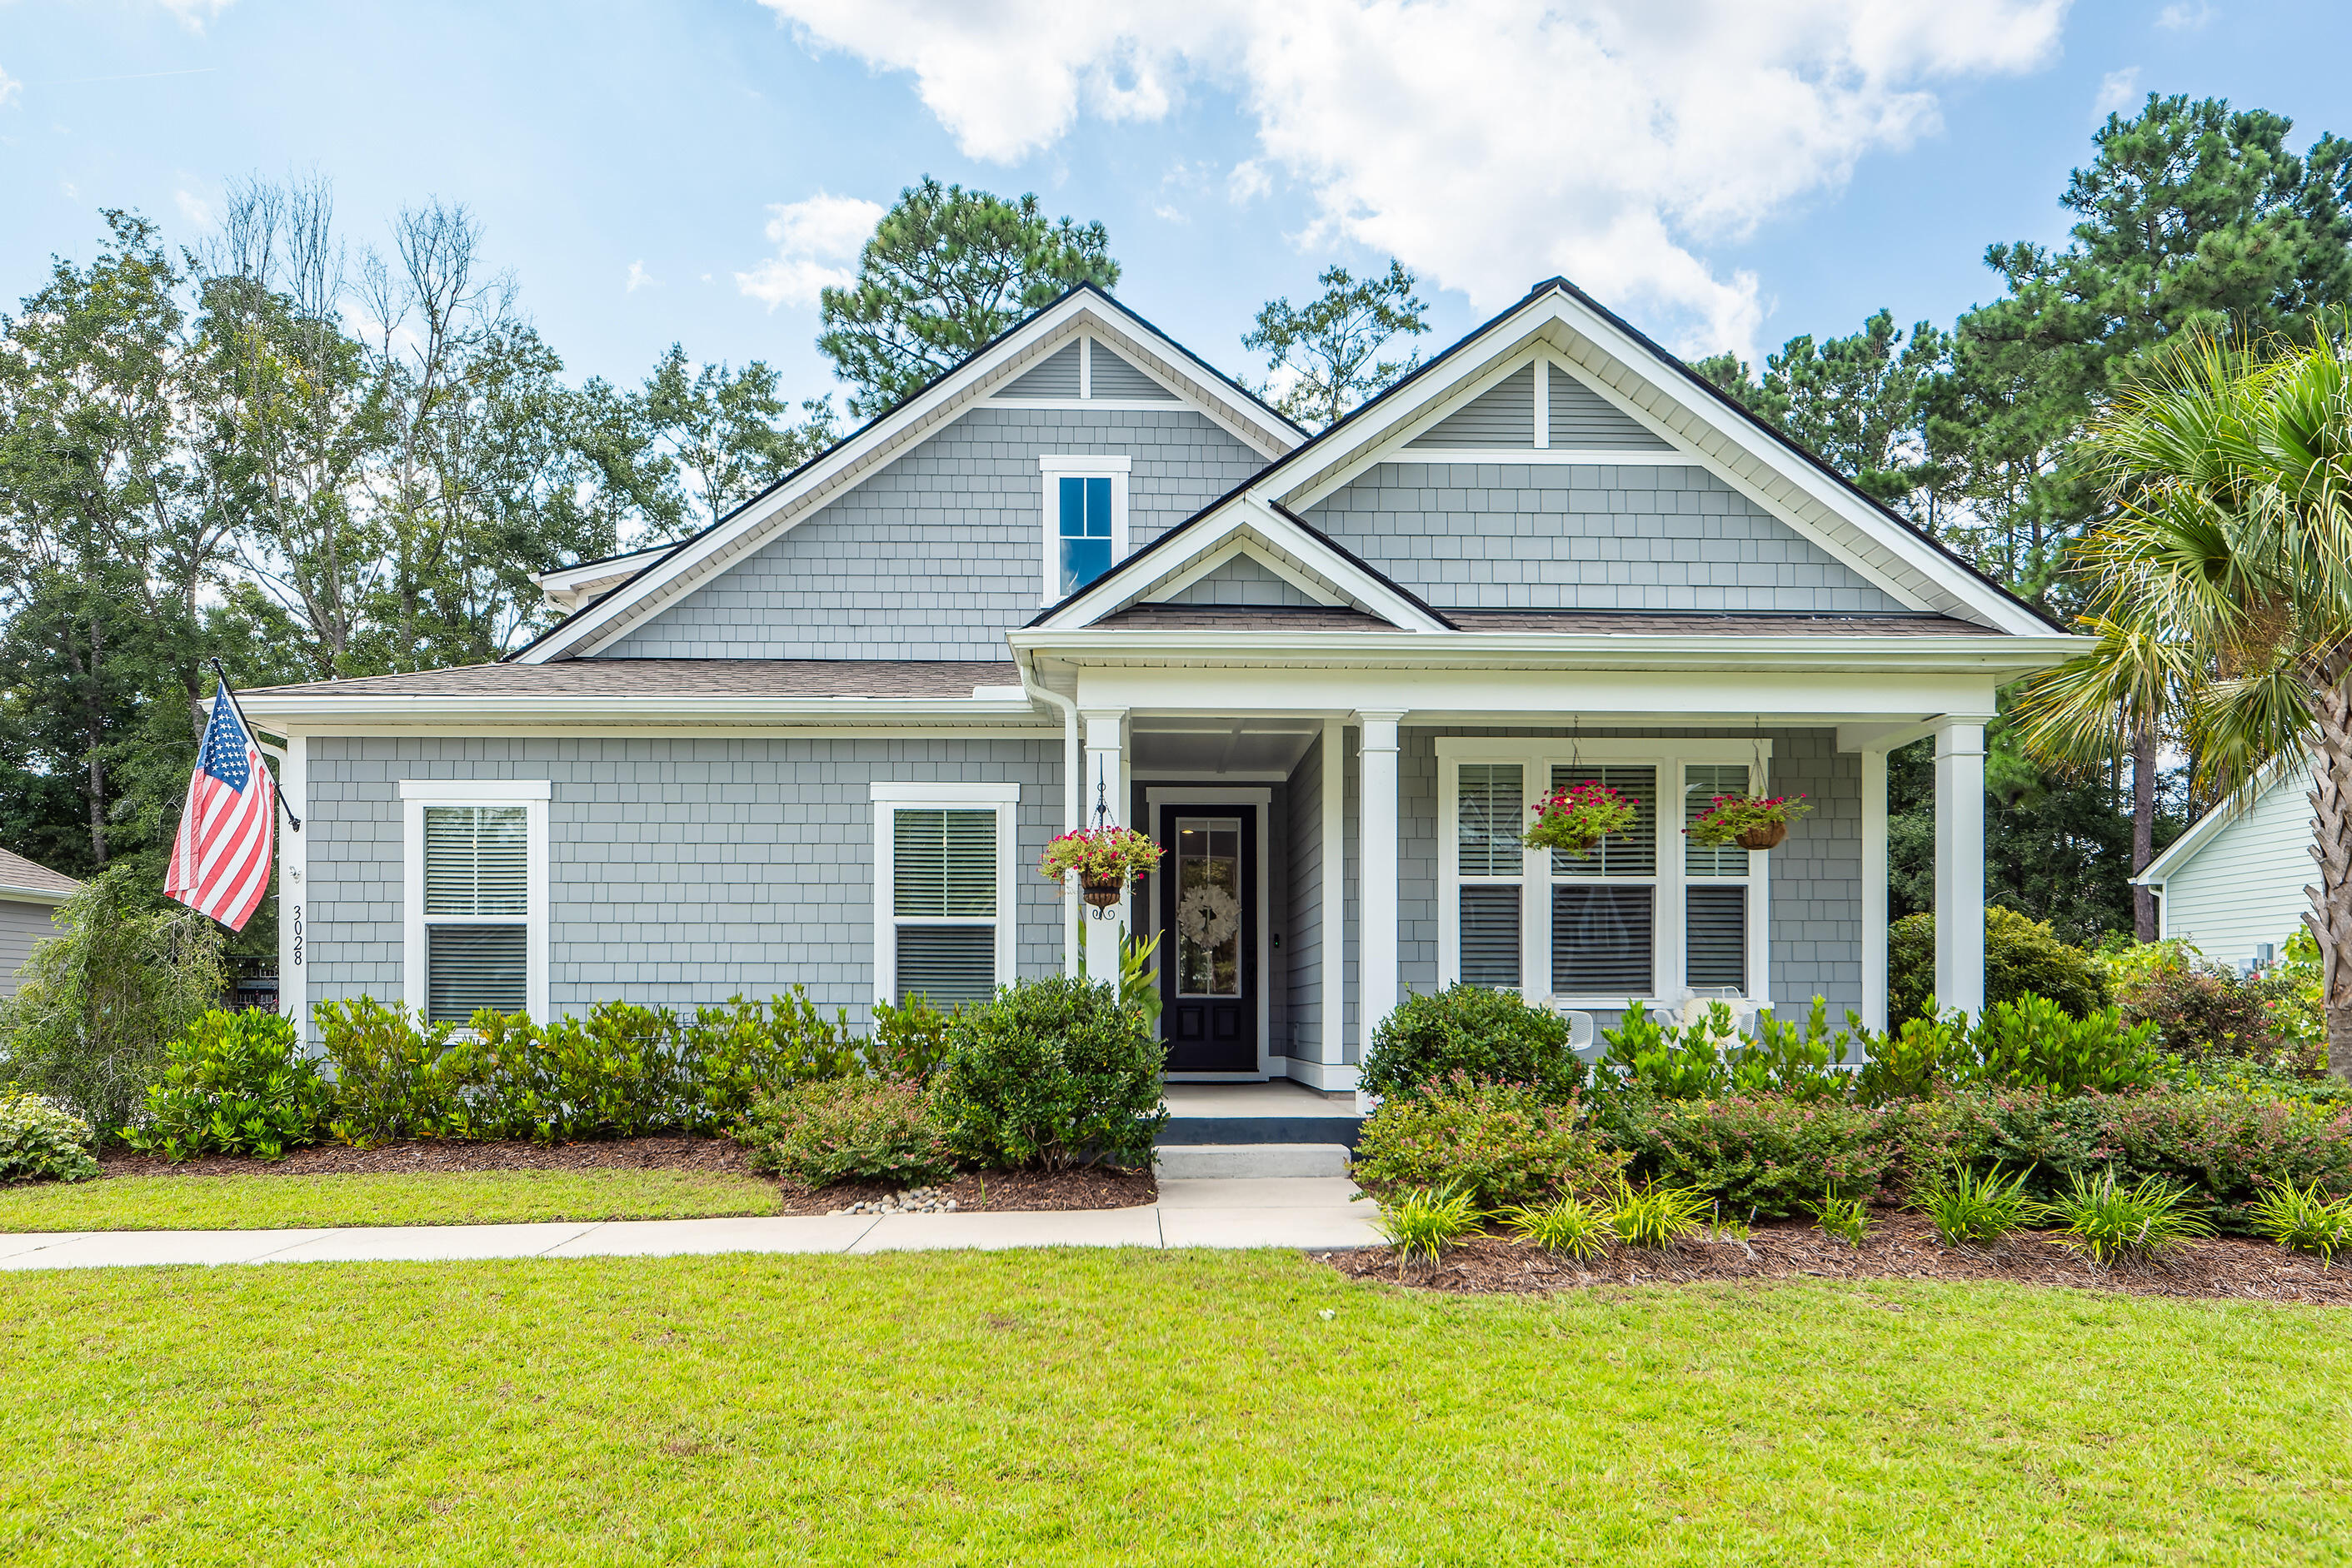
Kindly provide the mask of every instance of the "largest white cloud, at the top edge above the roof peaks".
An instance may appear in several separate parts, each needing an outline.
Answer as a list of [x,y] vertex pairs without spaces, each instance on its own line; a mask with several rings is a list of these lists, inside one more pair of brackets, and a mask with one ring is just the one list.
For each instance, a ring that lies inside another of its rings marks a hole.
[[[1752,348],[1757,280],[1698,247],[1940,127],[1936,87],[2051,59],[2070,0],[762,0],[814,49],[908,71],[971,158],[1082,113],[1232,92],[1228,195],[1310,200],[1305,244],[1395,254],[1479,308],[1566,273],[1677,348]],[[1244,174],[1247,169],[1247,174]]]

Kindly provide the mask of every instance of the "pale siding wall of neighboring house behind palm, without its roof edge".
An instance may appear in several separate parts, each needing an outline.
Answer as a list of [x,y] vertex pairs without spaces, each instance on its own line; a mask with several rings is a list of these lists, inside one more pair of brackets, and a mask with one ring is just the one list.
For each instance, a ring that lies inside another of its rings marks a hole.
[[2288,778],[2216,832],[2164,882],[2164,933],[2223,964],[2251,964],[2260,943],[2284,947],[2312,907],[2310,780]]

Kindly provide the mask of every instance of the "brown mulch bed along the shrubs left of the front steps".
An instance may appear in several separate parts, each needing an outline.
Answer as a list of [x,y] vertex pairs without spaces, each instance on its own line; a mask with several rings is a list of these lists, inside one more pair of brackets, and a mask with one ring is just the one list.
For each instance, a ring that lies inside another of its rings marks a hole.
[[[753,1175],[750,1154],[731,1138],[612,1138],[600,1143],[463,1143],[426,1138],[348,1150],[322,1143],[289,1150],[285,1159],[207,1154],[174,1166],[160,1154],[115,1150],[99,1157],[99,1175],[459,1175],[468,1171],[708,1171]],[[938,1182],[957,1213],[1051,1208],[1134,1208],[1160,1197],[1150,1171],[967,1171]],[[894,1182],[795,1187],[779,1182],[781,1213],[833,1213],[887,1199]]]

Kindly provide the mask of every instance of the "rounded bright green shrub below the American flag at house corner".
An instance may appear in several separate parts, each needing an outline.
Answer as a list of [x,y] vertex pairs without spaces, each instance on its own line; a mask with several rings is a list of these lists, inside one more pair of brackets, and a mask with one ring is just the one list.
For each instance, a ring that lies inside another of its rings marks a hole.
[[318,1143],[334,1091],[301,1056],[294,1023],[278,1013],[209,1011],[165,1051],[162,1081],[148,1086],[134,1150],[165,1159],[254,1154],[282,1159]]

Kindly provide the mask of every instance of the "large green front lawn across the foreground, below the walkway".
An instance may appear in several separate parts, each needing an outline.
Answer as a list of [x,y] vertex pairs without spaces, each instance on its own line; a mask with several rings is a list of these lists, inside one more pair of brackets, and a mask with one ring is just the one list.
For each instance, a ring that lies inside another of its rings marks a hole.
[[1282,1253],[0,1276],[9,1563],[2321,1563],[2352,1314]]

